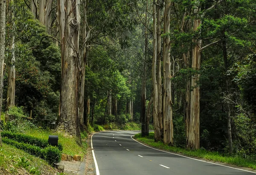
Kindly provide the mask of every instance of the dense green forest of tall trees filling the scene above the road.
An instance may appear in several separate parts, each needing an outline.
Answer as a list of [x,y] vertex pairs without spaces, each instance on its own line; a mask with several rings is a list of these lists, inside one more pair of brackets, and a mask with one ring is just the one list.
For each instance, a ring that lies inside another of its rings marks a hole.
[[89,123],[142,123],[142,135],[154,123],[155,141],[255,155],[256,0],[7,0],[3,8],[6,120],[22,108],[78,137]]

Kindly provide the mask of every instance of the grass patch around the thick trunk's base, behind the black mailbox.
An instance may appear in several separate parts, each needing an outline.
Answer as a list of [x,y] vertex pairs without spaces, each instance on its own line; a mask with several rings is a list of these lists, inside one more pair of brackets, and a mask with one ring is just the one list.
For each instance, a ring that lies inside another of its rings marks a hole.
[[[49,138],[49,135],[58,135],[58,143],[61,143],[63,145],[63,151],[62,153],[67,155],[81,155],[81,158],[84,157],[86,154],[86,147],[87,144],[85,141],[83,141],[83,146],[79,146],[76,143],[76,138],[69,138],[65,137],[61,133],[56,133],[51,130],[43,130],[43,129],[29,129],[25,132],[26,135],[30,135],[36,138],[42,138],[47,139]],[[84,140],[86,137],[84,134],[81,134],[82,140]]]

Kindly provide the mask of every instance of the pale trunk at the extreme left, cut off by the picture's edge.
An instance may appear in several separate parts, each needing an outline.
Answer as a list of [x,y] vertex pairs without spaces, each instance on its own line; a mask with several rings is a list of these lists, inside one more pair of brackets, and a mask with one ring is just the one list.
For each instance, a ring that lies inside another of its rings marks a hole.
[[[6,38],[6,0],[0,0],[0,116],[2,111],[3,100],[3,68],[4,68],[4,51]],[[1,121],[1,118],[0,118]],[[0,145],[2,147],[1,128],[0,128]]]

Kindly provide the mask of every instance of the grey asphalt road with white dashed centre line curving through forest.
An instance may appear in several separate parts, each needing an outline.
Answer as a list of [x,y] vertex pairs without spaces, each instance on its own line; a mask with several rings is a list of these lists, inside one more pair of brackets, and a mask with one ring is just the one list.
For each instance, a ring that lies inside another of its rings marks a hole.
[[137,133],[107,131],[93,135],[97,175],[256,175],[148,148],[131,138]]

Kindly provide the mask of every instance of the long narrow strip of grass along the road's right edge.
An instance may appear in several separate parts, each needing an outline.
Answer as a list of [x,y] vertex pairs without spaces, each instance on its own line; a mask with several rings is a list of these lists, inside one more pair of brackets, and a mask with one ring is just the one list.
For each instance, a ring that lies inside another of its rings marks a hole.
[[201,149],[198,149],[198,150],[183,149],[183,148],[164,145],[162,142],[154,142],[154,133],[152,132],[150,132],[149,136],[145,138],[142,138],[141,134],[135,135],[134,138],[142,143],[146,143],[149,146],[153,146],[154,148],[159,148],[159,149],[167,150],[170,152],[181,153],[189,157],[204,158],[211,161],[218,161],[222,163],[256,169],[256,160],[245,159],[239,156],[229,156],[229,155],[225,156],[225,155],[221,155],[219,152],[209,152],[207,150],[201,150]]

